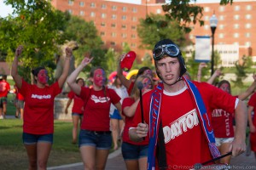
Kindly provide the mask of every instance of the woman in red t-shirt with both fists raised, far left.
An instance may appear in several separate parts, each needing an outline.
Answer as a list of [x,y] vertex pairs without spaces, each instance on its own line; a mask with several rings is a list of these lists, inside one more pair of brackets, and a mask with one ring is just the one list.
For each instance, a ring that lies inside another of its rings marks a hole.
[[46,169],[49,152],[53,143],[54,133],[54,102],[55,96],[67,79],[72,50],[66,48],[64,69],[57,82],[48,84],[48,72],[44,67],[32,70],[35,84],[25,82],[18,74],[18,58],[23,47],[15,52],[11,74],[20,94],[24,96],[23,143],[29,161],[28,169]]

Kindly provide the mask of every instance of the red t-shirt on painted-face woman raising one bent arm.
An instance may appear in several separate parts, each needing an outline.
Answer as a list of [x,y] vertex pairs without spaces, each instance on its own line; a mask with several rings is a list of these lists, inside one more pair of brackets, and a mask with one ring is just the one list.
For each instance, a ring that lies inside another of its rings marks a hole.
[[84,118],[81,129],[91,131],[109,131],[109,110],[120,101],[113,89],[95,91],[93,88],[81,88],[80,97],[85,101]]

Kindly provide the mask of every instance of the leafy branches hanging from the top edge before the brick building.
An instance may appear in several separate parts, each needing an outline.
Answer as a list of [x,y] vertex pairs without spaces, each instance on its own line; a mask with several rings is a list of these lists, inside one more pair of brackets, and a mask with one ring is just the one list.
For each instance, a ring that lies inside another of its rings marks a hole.
[[[176,20],[180,23],[179,28],[185,32],[191,31],[189,25],[191,23],[200,23],[200,26],[204,25],[202,20],[203,8],[193,4],[196,0],[172,0],[162,5],[163,10],[166,12],[171,20]],[[233,0],[220,0],[221,5],[232,4]],[[146,19],[147,20],[147,19]]]

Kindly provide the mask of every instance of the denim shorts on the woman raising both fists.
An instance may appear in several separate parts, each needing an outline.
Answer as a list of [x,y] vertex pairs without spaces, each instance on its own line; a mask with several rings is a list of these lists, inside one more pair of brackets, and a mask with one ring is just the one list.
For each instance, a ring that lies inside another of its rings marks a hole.
[[50,134],[22,134],[23,144],[37,144],[38,142],[53,143],[53,133]]

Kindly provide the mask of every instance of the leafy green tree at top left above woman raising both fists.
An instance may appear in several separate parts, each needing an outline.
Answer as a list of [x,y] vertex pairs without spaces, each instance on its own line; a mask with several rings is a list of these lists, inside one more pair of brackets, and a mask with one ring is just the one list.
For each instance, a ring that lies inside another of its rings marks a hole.
[[53,72],[54,54],[57,45],[64,41],[61,32],[70,15],[54,10],[49,1],[44,0],[5,0],[4,3],[14,8],[12,15],[0,20],[0,50],[7,52],[6,60],[12,62],[15,48],[23,45],[20,71],[26,81],[31,80],[30,71],[38,65]]

